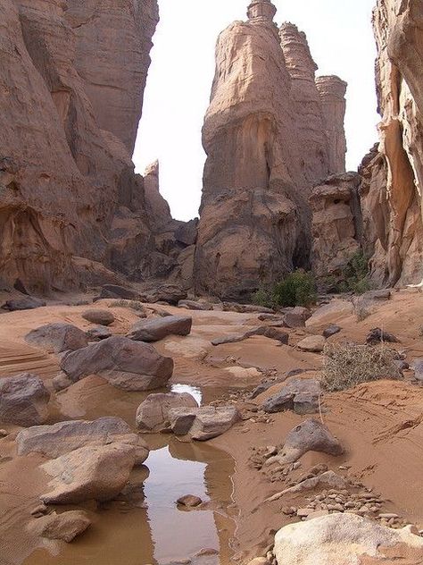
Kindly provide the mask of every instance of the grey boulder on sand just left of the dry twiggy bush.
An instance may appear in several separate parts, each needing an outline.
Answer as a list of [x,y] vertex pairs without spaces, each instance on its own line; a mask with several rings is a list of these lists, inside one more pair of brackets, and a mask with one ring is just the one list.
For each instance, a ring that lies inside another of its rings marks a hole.
[[316,379],[293,379],[280,392],[270,396],[262,408],[265,412],[294,410],[297,414],[313,414],[319,411],[320,383]]

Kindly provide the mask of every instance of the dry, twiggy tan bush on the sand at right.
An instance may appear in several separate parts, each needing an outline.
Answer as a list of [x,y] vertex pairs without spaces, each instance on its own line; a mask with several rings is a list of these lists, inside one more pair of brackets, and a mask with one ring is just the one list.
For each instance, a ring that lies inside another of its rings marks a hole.
[[400,379],[396,352],[385,345],[330,344],[325,348],[323,384],[330,392],[344,391],[378,379]]

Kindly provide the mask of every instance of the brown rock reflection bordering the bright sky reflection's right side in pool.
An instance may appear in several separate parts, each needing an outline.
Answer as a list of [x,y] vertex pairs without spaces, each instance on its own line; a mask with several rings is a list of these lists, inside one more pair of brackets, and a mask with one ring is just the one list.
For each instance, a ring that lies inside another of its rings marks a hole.
[[[198,565],[230,563],[232,552],[230,542],[235,530],[235,522],[228,516],[228,505],[232,501],[232,476],[235,473],[235,460],[225,451],[217,450],[207,443],[182,443],[174,440],[169,444],[169,451],[174,459],[201,461],[206,464],[203,473],[205,493],[211,500],[213,520],[219,538],[218,558],[203,556],[193,561]],[[202,510],[198,510],[202,511]],[[214,559],[214,561],[212,561]],[[217,561],[216,561],[217,559]],[[207,561],[209,560],[209,561]]]

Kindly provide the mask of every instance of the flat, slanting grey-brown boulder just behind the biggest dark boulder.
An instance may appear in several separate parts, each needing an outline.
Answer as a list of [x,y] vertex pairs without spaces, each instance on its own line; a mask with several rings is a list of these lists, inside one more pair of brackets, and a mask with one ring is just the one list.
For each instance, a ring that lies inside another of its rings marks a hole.
[[168,335],[188,335],[193,318],[189,316],[165,316],[142,320],[133,326],[127,337],[136,342],[159,342]]

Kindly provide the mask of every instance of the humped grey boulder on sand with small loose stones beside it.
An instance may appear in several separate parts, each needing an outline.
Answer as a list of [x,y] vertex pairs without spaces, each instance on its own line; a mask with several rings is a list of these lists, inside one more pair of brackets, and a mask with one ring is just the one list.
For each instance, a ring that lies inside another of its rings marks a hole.
[[334,456],[344,453],[341,444],[329,432],[328,427],[318,420],[309,418],[286,435],[282,451],[270,458],[267,463],[278,462],[280,465],[294,463],[307,451],[319,451]]

